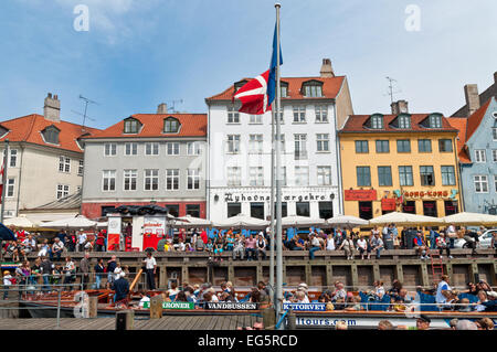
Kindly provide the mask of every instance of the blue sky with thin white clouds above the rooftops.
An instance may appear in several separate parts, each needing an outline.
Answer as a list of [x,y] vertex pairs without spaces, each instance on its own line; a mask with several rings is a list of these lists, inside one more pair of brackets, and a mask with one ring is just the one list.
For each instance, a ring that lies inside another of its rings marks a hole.
[[[390,111],[387,76],[410,113],[447,116],[465,104],[465,84],[482,93],[494,82],[495,0],[279,2],[282,76],[318,76],[329,57],[348,78],[355,114]],[[96,128],[160,103],[207,113],[205,97],[268,68],[274,3],[2,0],[0,120],[43,114],[49,92],[62,119],[76,124],[80,95],[96,102],[86,124]]]

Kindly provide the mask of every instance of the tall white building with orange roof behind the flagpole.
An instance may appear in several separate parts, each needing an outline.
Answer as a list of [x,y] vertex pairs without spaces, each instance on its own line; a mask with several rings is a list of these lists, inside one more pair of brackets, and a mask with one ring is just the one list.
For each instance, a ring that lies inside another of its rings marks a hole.
[[[208,216],[271,215],[272,113],[237,113],[242,79],[207,98],[209,108]],[[320,76],[283,77],[282,214],[328,218],[342,212],[336,130],[352,106],[345,76],[324,60]]]

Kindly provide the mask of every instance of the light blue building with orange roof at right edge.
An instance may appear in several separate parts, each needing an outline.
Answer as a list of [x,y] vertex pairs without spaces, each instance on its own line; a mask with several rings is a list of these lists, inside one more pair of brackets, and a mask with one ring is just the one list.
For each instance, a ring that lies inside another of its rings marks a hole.
[[497,102],[490,97],[467,118],[451,117],[459,130],[458,158],[464,211],[497,214]]

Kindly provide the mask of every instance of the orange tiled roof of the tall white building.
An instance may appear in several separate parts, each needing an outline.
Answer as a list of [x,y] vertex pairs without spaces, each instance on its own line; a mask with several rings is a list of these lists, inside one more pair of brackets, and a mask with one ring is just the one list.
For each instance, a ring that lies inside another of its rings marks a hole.
[[[241,81],[248,81],[252,78],[243,78]],[[287,97],[282,99],[334,99],[340,92],[341,85],[343,83],[345,76],[335,77],[282,77],[282,85],[284,83],[288,84]],[[304,82],[317,81],[322,82],[322,97],[305,97],[303,92],[300,92]],[[224,92],[205,98],[207,102],[212,100],[231,100],[234,94],[234,84],[231,85]]]

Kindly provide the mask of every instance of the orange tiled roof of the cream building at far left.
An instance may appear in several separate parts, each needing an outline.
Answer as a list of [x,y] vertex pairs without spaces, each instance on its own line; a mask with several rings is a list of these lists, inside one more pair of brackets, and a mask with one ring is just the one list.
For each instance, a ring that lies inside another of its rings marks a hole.
[[[9,139],[9,141],[24,141],[30,143],[35,143],[45,147],[65,149],[76,152],[83,152],[83,150],[77,146],[76,139],[83,134],[95,134],[98,131],[96,128],[85,127],[83,131],[83,126],[71,124],[66,121],[54,122],[45,119],[43,116],[38,114],[27,115],[23,117],[18,117],[11,120],[0,122],[0,126],[9,130],[8,134],[0,138],[0,141]],[[59,145],[47,143],[43,140],[41,131],[49,126],[55,126],[59,130]]]

